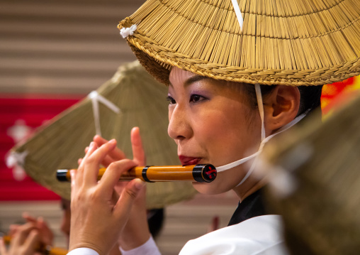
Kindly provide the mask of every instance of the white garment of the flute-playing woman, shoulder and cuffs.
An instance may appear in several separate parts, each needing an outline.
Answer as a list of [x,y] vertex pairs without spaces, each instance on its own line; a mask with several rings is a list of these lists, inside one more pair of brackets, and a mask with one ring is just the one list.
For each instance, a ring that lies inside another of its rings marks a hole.
[[[152,239],[152,238],[150,238]],[[153,240],[133,250],[131,254],[159,255]],[[99,255],[87,253],[91,249],[74,249],[67,255]],[[140,250],[137,250],[140,249]],[[135,251],[135,253],[133,252]],[[125,255],[124,254],[124,255]],[[281,217],[264,215],[239,224],[218,229],[187,242],[179,255],[288,255],[283,242]],[[130,253],[128,254],[130,255]]]

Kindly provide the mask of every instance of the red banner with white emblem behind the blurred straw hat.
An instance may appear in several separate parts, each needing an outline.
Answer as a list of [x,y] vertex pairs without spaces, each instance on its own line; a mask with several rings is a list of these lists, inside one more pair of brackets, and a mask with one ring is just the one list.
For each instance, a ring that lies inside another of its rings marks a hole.
[[18,119],[23,119],[26,126],[35,129],[44,121],[60,114],[84,96],[0,94],[0,201],[11,200],[59,200],[54,192],[43,188],[28,176],[21,181],[13,178],[13,170],[6,166],[6,153],[15,145],[7,134],[8,129]]

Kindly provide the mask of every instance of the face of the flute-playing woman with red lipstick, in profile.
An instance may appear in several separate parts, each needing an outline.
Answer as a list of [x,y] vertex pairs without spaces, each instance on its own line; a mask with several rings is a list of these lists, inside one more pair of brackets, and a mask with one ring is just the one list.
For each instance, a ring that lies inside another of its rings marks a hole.
[[[215,167],[257,151],[261,123],[247,104],[241,85],[172,68],[169,85],[168,133],[178,145],[183,165]],[[246,174],[246,164],[218,173],[212,183],[193,183],[196,190],[217,194],[231,190]]]

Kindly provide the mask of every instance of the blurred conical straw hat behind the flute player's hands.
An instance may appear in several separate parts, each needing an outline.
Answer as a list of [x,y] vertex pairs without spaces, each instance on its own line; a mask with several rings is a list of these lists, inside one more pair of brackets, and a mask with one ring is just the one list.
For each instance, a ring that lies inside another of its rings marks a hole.
[[[70,184],[56,170],[77,168],[95,134],[116,139],[132,158],[130,130],[139,126],[148,165],[179,165],[176,143],[167,135],[167,87],[156,82],[136,61],[118,72],[89,97],[40,127],[33,137],[12,148],[11,156],[40,185],[70,198]],[[196,194],[191,183],[147,183],[147,207],[159,208]]]

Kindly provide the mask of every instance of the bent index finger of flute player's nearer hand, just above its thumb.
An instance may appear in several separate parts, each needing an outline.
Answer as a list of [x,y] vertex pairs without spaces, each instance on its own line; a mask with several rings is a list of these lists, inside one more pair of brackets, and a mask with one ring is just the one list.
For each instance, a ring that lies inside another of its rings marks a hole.
[[105,197],[112,196],[113,189],[116,183],[118,183],[120,176],[134,166],[136,166],[136,163],[134,161],[130,161],[130,159],[116,161],[108,166],[99,183],[99,188],[101,188]]

